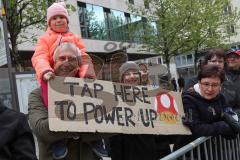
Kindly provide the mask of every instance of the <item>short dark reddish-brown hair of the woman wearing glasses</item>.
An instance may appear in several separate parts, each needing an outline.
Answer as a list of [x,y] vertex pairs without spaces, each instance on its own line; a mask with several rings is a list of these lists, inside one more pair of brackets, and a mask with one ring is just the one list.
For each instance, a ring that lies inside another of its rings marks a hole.
[[223,69],[221,69],[216,64],[207,64],[202,67],[202,69],[198,73],[198,80],[201,81],[203,78],[211,78],[211,77],[218,77],[223,83],[225,74]]

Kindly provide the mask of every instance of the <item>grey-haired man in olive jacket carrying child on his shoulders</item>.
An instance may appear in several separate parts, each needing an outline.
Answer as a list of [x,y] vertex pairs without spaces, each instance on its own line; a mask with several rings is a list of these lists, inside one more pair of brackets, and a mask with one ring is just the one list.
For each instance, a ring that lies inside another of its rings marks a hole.
[[[76,50],[65,50],[65,47],[74,47],[69,43],[62,43],[53,55],[54,73],[63,77],[79,77],[80,56],[73,52]],[[48,110],[44,104],[41,88],[33,90],[28,98],[29,122],[38,140],[39,159],[50,160],[56,155],[55,147],[58,148],[62,159],[71,160],[94,160],[99,157],[94,153],[89,143],[105,138],[106,134],[100,133],[71,133],[52,132],[49,130]],[[51,107],[51,106],[48,106]],[[61,142],[56,144],[57,142]],[[66,153],[66,149],[68,150]],[[64,153],[64,154],[62,154]],[[63,156],[64,155],[64,156]]]

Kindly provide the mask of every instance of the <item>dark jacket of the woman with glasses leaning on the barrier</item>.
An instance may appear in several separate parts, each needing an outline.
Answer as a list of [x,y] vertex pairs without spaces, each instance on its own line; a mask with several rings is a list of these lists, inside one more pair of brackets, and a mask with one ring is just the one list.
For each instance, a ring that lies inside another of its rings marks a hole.
[[207,100],[195,91],[186,92],[183,94],[183,106],[186,113],[183,123],[190,128],[194,138],[235,135],[232,128],[221,117],[225,106],[222,94]]

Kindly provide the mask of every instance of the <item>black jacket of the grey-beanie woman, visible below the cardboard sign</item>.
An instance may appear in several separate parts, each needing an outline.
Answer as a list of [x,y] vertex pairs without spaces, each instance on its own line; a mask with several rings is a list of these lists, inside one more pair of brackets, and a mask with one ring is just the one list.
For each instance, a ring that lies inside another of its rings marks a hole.
[[[154,135],[119,134],[110,138],[112,160],[157,160]],[[167,144],[169,148],[169,144]]]

